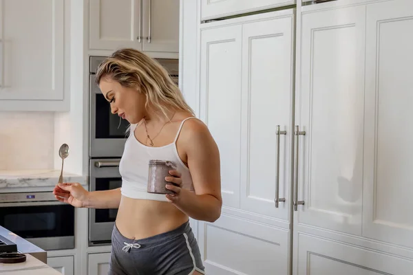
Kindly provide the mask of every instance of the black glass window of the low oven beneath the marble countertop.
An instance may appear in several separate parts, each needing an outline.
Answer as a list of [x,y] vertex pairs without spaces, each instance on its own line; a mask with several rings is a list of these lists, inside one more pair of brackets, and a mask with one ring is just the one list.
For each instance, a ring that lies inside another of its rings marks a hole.
[[26,238],[74,235],[74,207],[69,204],[0,208],[0,225]]

